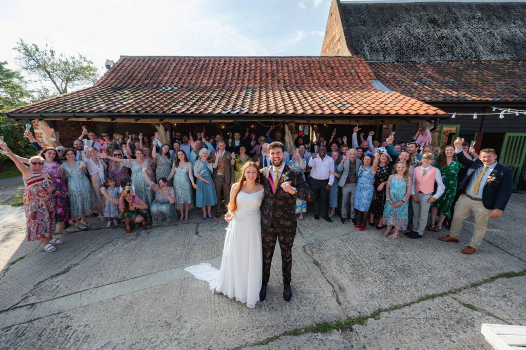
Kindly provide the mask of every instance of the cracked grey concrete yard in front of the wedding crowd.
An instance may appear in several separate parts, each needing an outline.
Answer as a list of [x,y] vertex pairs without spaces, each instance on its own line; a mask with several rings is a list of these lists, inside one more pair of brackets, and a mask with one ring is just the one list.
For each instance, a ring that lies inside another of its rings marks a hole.
[[[21,207],[0,206],[1,349],[491,349],[482,323],[526,325],[526,196],[514,194],[479,251],[391,240],[307,215],[290,303],[280,255],[255,309],[214,295],[184,268],[219,267],[222,219],[126,234],[91,218],[57,252],[24,242]],[[279,247],[277,248],[279,249]]]

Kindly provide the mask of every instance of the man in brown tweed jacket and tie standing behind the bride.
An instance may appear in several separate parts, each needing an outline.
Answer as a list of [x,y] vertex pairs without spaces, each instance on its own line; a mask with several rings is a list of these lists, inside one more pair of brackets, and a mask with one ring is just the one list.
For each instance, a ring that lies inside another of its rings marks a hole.
[[[234,184],[234,167],[231,164],[232,155],[226,151],[226,143],[224,140],[219,140],[217,143],[217,152],[212,154],[214,159],[214,186],[216,189],[216,217],[221,216],[221,206],[223,212],[226,214],[227,205],[230,198],[230,186]],[[195,169],[195,168],[194,168]],[[196,174],[194,172],[194,174]],[[197,184],[199,185],[199,184]],[[224,199],[224,204],[221,205],[221,194]]]

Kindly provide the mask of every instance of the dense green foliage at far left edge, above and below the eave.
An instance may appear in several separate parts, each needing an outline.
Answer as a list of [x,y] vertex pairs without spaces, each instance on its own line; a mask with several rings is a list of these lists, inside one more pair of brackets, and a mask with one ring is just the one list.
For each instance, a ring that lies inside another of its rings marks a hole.
[[[0,112],[22,106],[28,102],[29,92],[24,88],[24,79],[18,72],[6,67],[7,62],[0,62]],[[16,154],[22,156],[34,155],[35,149],[23,136],[25,124],[30,121],[12,121],[0,117],[0,135]],[[7,157],[0,156],[0,161]]]

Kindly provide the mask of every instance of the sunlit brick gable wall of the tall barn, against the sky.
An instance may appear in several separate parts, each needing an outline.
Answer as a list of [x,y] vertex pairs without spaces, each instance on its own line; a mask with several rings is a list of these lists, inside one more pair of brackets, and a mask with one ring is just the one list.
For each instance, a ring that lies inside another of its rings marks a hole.
[[327,28],[323,45],[321,46],[321,56],[351,56],[347,47],[343,27],[341,25],[340,12],[338,10],[337,0],[332,0],[327,19]]

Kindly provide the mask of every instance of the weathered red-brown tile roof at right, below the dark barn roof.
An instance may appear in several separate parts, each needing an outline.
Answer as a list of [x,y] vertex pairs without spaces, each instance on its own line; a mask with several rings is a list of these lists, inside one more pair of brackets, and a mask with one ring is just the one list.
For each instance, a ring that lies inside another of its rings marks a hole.
[[370,62],[390,89],[426,102],[524,102],[526,61]]

